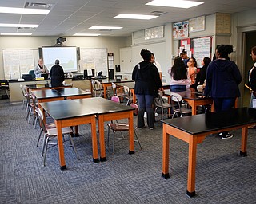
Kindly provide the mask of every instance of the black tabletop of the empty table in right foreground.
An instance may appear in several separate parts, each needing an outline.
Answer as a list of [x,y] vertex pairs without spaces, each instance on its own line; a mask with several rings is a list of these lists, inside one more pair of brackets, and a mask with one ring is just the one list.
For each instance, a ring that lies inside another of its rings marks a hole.
[[207,112],[206,114],[162,120],[162,122],[194,135],[256,123],[256,109],[234,108],[225,112]]

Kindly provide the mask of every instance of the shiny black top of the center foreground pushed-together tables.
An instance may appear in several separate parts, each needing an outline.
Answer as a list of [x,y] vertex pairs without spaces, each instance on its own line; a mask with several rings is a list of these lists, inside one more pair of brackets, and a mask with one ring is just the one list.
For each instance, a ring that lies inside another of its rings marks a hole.
[[41,106],[54,120],[134,110],[130,106],[118,104],[101,97],[81,100],[57,100],[41,103]]

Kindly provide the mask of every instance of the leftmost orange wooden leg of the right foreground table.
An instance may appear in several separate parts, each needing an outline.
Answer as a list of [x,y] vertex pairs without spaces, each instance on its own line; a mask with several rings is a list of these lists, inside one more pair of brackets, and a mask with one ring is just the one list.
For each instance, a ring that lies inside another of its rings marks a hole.
[[169,134],[166,133],[166,124],[162,126],[162,177],[167,179],[169,175]]

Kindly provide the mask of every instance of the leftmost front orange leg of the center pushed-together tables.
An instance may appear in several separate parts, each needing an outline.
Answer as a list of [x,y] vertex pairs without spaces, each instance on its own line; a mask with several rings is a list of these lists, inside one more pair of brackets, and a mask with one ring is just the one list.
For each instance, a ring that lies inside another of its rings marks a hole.
[[62,139],[62,122],[60,120],[55,120],[55,125],[58,131],[58,159],[61,170],[66,169],[65,157],[64,157],[64,146]]

